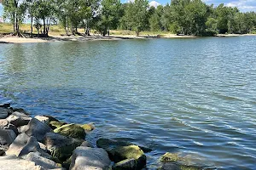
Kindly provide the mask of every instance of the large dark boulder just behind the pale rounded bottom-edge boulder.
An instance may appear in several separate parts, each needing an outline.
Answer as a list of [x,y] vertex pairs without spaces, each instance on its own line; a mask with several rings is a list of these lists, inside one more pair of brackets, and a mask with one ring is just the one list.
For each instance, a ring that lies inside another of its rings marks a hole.
[[62,136],[58,133],[46,133],[44,139],[44,144],[51,156],[60,161],[66,161],[67,158],[72,156],[73,150],[82,143],[83,140]]

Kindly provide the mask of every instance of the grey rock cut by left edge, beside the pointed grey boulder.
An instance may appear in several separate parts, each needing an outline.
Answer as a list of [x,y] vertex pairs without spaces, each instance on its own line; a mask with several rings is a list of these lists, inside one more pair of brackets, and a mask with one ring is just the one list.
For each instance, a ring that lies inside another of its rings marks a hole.
[[9,145],[14,142],[16,134],[14,131],[9,129],[0,129],[0,146],[5,150],[8,149]]

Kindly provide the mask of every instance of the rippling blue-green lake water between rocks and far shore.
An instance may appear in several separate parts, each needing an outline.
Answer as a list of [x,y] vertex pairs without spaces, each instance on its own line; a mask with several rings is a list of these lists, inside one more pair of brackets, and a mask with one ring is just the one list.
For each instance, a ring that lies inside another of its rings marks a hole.
[[5,102],[148,146],[148,169],[256,168],[256,37],[1,44]]

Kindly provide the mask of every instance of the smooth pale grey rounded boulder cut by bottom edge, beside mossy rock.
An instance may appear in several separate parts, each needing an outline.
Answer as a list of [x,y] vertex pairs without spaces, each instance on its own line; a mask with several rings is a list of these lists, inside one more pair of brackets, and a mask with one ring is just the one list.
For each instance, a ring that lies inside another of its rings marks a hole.
[[111,161],[102,148],[79,146],[73,150],[70,170],[108,170]]

